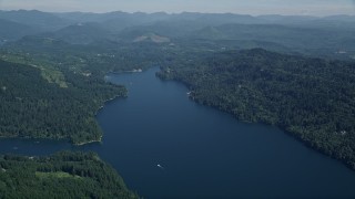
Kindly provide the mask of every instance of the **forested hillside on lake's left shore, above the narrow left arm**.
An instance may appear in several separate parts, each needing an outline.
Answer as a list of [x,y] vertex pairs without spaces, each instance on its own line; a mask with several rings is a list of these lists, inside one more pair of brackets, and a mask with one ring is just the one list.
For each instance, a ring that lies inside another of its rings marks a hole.
[[0,136],[101,140],[95,113],[125,88],[102,76],[47,70],[0,61]]

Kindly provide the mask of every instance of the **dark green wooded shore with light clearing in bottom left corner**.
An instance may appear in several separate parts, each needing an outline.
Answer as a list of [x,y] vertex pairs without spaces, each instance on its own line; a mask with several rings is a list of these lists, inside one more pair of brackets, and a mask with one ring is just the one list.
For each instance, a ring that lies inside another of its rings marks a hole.
[[97,154],[0,156],[0,198],[139,198]]

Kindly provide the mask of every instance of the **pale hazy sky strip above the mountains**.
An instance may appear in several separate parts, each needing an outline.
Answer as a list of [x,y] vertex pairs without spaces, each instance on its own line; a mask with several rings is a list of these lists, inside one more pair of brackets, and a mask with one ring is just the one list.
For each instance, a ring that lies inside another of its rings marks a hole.
[[0,10],[355,14],[355,0],[0,0]]

